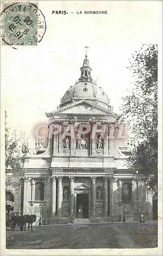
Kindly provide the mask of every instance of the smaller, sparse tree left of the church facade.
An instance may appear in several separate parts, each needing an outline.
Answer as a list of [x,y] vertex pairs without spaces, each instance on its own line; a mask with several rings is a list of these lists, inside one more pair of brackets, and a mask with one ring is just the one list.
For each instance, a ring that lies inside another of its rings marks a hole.
[[27,140],[24,132],[17,136],[16,130],[12,131],[5,122],[5,164],[6,169],[12,168],[13,174],[21,173],[23,153],[28,151]]

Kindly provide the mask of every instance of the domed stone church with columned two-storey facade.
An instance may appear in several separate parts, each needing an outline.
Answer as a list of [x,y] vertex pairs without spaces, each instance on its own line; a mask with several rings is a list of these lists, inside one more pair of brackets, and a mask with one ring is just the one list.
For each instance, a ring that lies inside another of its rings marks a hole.
[[14,210],[35,214],[36,225],[133,221],[142,212],[151,219],[152,196],[125,165],[130,149],[119,138],[120,116],[91,77],[87,54],[80,71],[46,113],[52,136],[24,156]]

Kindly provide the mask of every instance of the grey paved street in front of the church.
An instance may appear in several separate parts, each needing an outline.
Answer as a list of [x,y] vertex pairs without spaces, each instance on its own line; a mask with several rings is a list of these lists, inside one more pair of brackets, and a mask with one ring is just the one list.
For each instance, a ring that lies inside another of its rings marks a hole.
[[157,223],[34,226],[7,230],[7,249],[157,247]]

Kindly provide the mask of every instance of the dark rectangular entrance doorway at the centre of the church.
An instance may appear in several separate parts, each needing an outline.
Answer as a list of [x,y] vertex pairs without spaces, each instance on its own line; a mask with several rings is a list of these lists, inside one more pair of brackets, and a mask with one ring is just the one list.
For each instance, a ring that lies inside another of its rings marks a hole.
[[89,195],[77,194],[77,218],[88,219],[89,218]]

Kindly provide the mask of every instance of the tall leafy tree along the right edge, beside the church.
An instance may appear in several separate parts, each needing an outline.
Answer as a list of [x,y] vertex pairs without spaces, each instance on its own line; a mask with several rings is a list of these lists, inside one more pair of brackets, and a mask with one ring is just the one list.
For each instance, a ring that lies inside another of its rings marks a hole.
[[135,52],[130,70],[133,88],[123,97],[121,117],[134,135],[128,167],[150,190],[157,191],[157,45],[143,45]]

